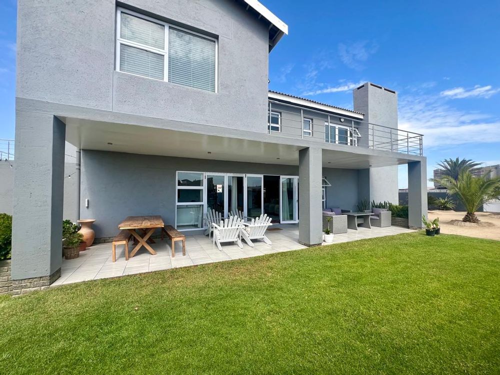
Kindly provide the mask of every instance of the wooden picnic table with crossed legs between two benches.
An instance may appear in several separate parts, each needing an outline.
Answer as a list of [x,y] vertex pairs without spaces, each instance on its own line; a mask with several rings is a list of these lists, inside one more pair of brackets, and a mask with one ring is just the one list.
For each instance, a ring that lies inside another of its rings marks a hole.
[[[156,251],[154,251],[153,248],[149,246],[147,241],[155,243],[154,240],[149,237],[156,229],[163,228],[164,226],[165,223],[159,215],[127,216],[122,222],[118,224],[119,229],[128,230],[138,242],[137,245],[133,248],[132,252],[130,252],[130,257],[134,256],[142,246],[144,246],[152,255],[155,255]],[[139,233],[137,233],[137,230],[142,233],[142,237]]]

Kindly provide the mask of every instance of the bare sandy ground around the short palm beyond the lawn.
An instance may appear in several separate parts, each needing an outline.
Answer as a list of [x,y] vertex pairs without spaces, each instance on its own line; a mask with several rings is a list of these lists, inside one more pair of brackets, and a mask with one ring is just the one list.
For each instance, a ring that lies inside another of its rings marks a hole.
[[475,214],[479,220],[481,220],[479,225],[458,222],[460,226],[457,226],[452,224],[453,220],[461,220],[465,215],[465,212],[440,210],[428,211],[430,219],[434,219],[436,216],[439,216],[441,233],[460,234],[468,237],[488,238],[500,241],[500,214],[489,212],[476,212]]

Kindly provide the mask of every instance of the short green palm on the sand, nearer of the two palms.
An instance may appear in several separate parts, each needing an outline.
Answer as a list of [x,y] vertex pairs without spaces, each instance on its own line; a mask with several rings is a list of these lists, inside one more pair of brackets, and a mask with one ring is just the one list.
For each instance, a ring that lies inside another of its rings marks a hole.
[[462,218],[466,222],[479,222],[475,211],[486,200],[493,199],[500,188],[500,178],[489,178],[489,173],[474,177],[468,170],[462,170],[456,180],[445,175],[436,181],[460,199],[467,210]]

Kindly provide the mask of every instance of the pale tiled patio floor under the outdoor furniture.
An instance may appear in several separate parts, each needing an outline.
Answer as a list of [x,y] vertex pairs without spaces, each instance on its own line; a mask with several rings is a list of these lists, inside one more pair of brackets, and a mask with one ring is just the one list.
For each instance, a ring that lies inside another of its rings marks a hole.
[[[203,263],[212,263],[222,260],[231,260],[269,254],[272,252],[290,251],[305,248],[306,246],[298,243],[298,225],[286,224],[275,225],[282,230],[267,231],[266,234],[272,241],[268,245],[263,241],[254,241],[252,248],[243,241],[243,248],[240,249],[236,244],[222,244],[222,251],[212,244],[208,236],[193,235],[186,236],[186,255],[182,256],[182,244],[176,242],[175,256],[172,258],[170,253],[170,240],[166,238],[161,241],[155,240],[151,247],[157,252],[156,255],[150,255],[142,247],[139,252],[128,261],[125,261],[123,246],[116,246],[116,261],[111,261],[111,243],[99,243],[87,250],[80,252],[76,259],[62,260],[61,276],[52,284],[52,286],[69,284],[84,280],[97,278],[116,277],[132,273],[151,272],[161,269],[185,267]],[[333,243],[353,241],[356,239],[380,237],[392,235],[412,230],[399,226],[390,226],[386,228],[372,227],[371,229],[359,228],[359,230],[348,229],[347,233],[335,234]],[[326,243],[323,243],[323,245]],[[132,246],[130,243],[130,250]]]

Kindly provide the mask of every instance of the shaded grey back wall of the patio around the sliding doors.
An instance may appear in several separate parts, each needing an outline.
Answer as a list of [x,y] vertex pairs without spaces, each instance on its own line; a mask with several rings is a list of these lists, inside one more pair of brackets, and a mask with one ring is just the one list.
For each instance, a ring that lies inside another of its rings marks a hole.
[[[118,223],[128,215],[160,214],[165,222],[174,225],[177,170],[298,176],[296,165],[82,150],[80,217],[97,220],[97,237],[115,235]],[[322,173],[332,184],[326,188],[327,205],[355,207],[358,171],[323,168]]]

